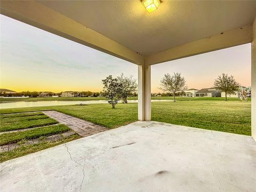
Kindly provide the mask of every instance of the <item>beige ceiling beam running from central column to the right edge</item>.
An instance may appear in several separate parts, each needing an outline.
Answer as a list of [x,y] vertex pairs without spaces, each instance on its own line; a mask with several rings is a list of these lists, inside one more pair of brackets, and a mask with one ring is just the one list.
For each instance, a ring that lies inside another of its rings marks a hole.
[[155,65],[157,63],[181,59],[251,42],[252,25],[248,25],[234,30],[224,31],[221,34],[199,39],[198,41],[176,46],[169,50],[147,55],[145,57],[145,63],[146,65]]

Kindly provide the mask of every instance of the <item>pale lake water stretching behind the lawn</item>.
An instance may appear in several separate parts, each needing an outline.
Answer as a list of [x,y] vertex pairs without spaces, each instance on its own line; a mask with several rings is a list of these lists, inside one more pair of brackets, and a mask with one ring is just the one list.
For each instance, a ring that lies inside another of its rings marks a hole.
[[[170,102],[171,100],[151,100],[151,102]],[[138,102],[138,100],[128,100],[128,102]],[[92,103],[108,103],[106,100],[98,101],[17,101],[0,103],[0,109],[17,108],[17,107],[43,107],[43,106],[61,106],[61,105],[77,105]]]

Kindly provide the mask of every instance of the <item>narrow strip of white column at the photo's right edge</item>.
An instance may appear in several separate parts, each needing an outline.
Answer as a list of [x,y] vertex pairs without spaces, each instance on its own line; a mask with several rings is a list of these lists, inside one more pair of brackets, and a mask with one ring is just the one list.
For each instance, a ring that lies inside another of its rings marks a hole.
[[256,141],[256,18],[252,31],[252,137]]

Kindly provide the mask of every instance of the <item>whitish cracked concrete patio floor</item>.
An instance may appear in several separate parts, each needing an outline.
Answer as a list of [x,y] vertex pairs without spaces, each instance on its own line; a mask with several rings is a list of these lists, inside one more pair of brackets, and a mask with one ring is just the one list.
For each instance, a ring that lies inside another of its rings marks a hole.
[[4,162],[4,191],[256,191],[244,135],[135,122]]

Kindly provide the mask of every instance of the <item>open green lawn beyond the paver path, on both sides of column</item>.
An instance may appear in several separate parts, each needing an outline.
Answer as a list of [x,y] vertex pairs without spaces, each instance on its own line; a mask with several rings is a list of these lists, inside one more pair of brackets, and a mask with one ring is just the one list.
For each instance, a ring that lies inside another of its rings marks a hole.
[[[109,128],[137,121],[137,103],[83,106],[51,106],[1,109],[0,113],[57,110]],[[178,101],[153,102],[152,120],[208,130],[251,135],[251,102],[240,101]]]

